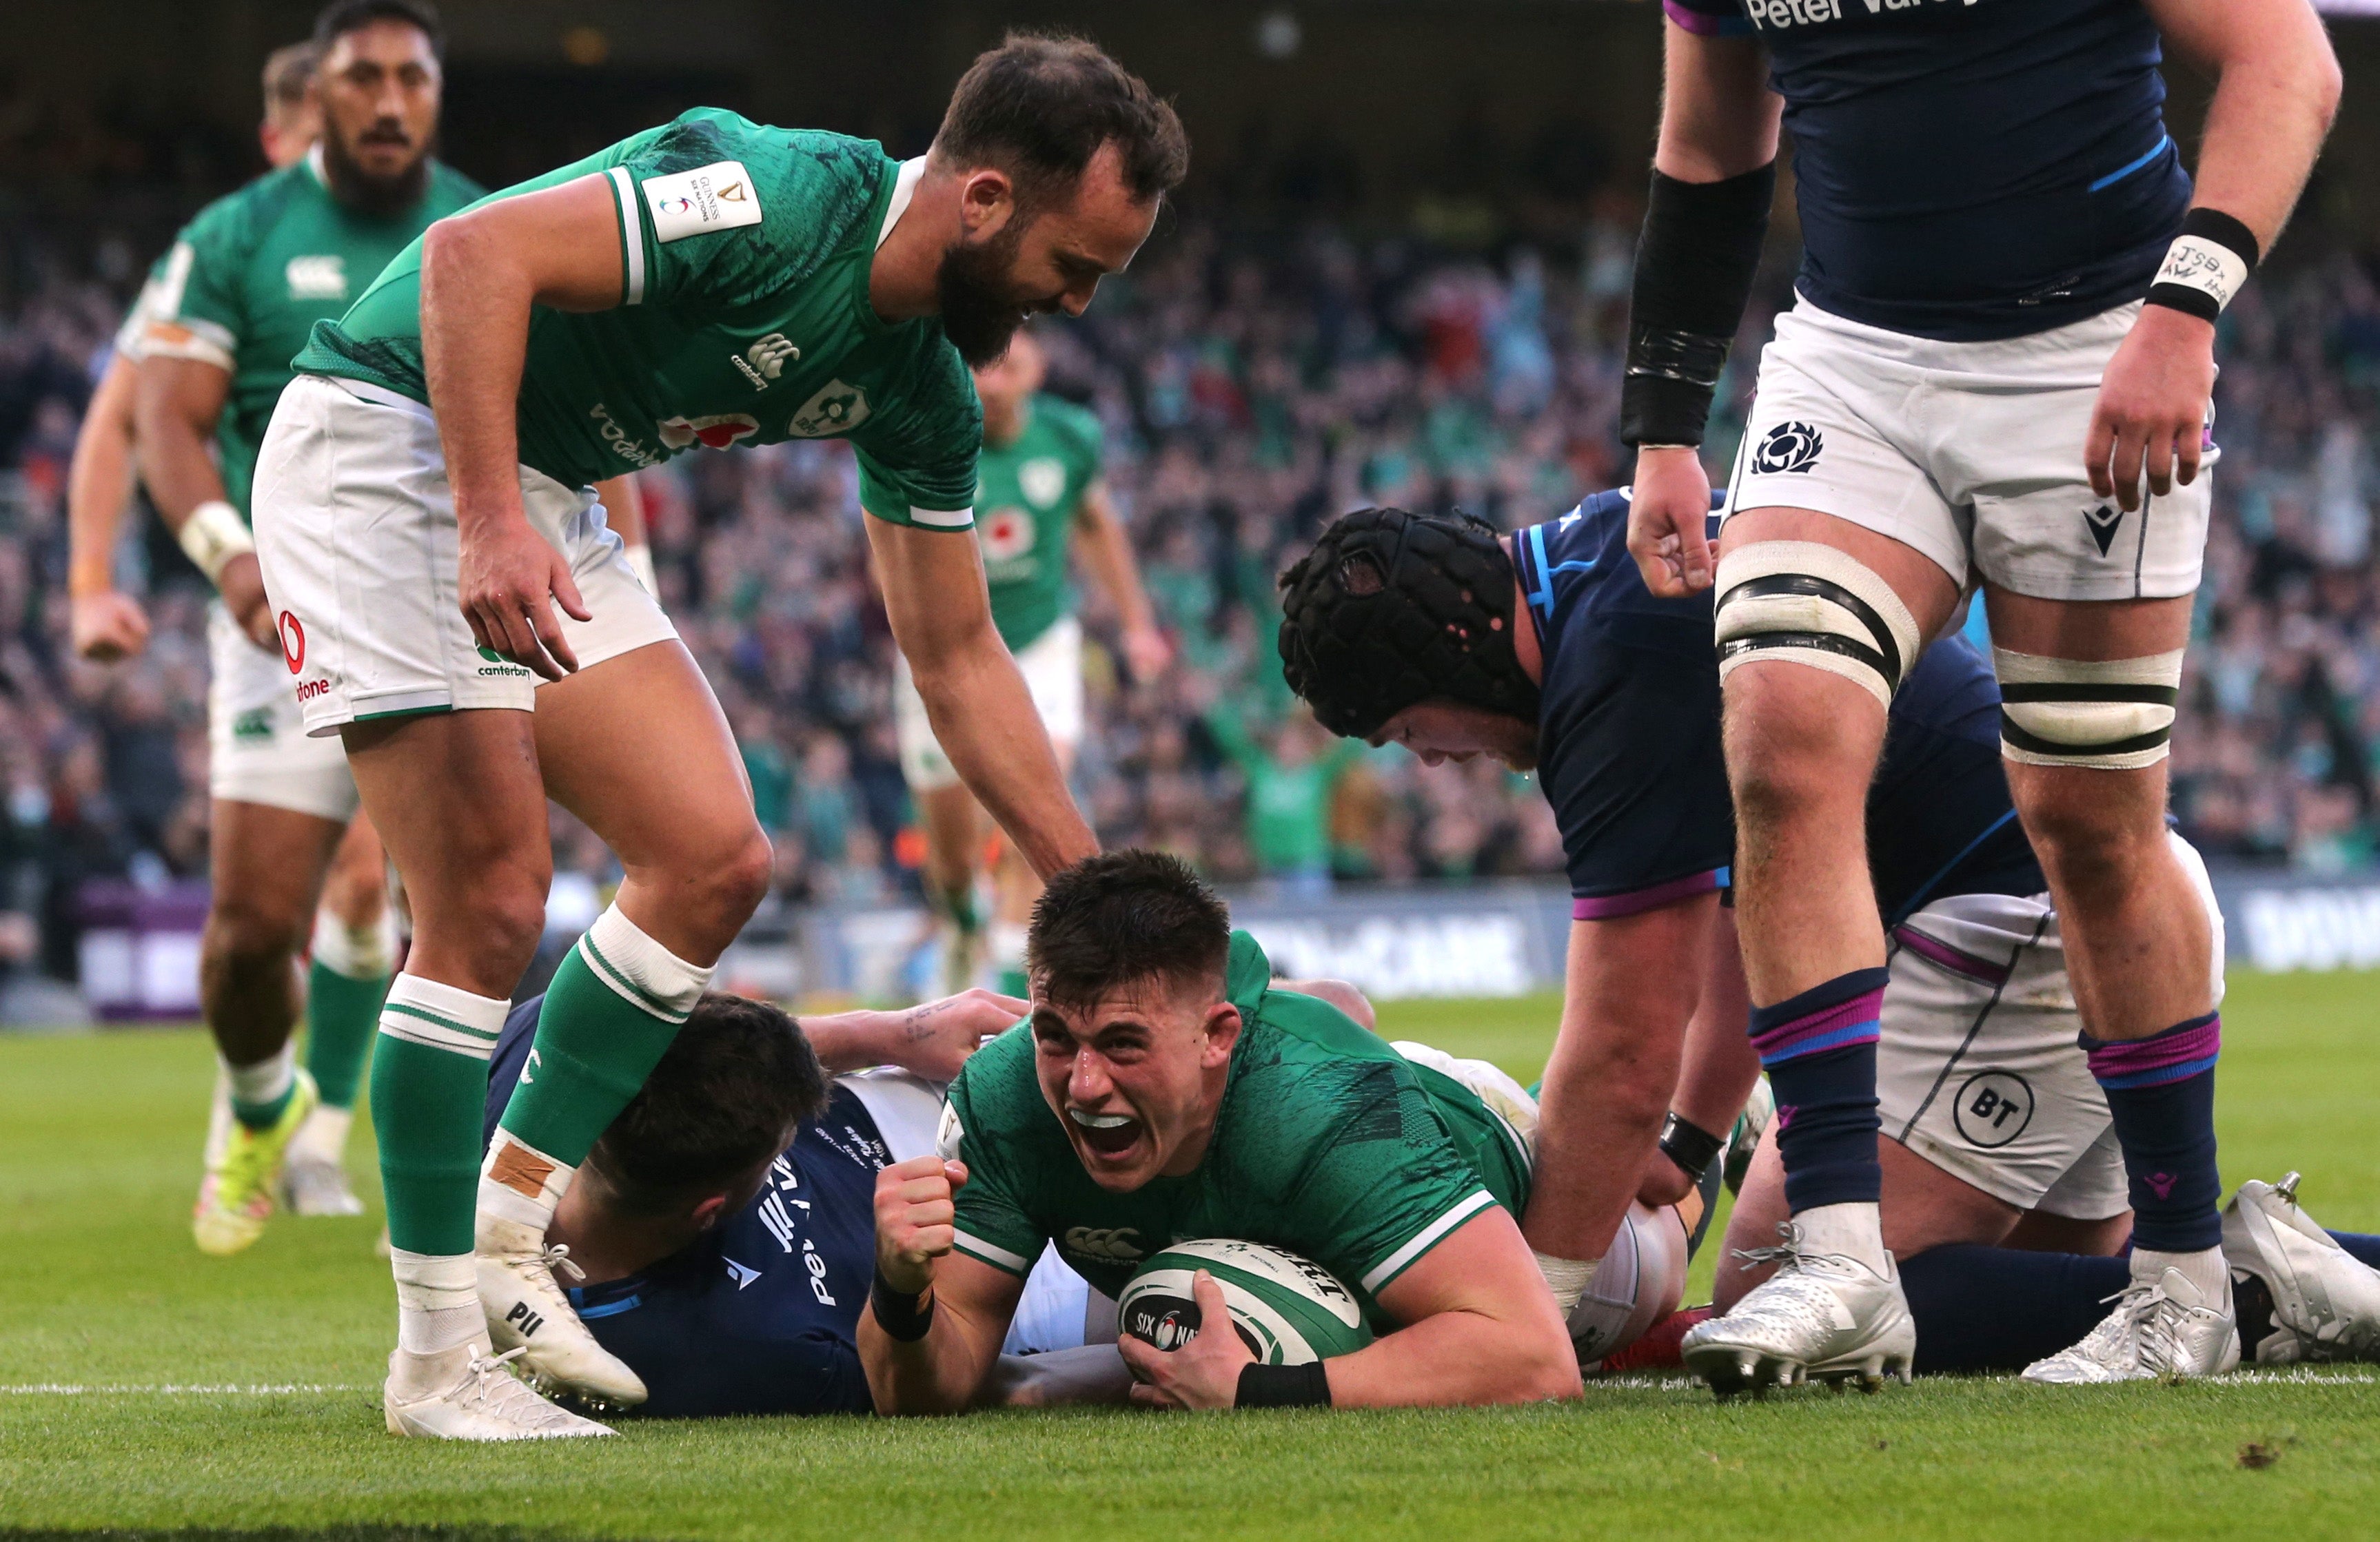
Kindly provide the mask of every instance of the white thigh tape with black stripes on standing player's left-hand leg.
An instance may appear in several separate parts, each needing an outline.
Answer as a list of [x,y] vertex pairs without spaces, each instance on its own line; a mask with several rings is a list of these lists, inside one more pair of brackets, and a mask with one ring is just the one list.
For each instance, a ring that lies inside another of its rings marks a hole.
[[1785,659],[1892,704],[1918,657],[1918,623],[1873,569],[1814,540],[1759,540],[1718,562],[1718,678]]

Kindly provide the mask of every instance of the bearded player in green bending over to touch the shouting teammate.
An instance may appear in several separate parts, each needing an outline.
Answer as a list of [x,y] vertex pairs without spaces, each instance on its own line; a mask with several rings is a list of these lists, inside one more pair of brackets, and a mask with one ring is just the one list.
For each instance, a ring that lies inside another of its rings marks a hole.
[[[1180,121],[1114,59],[1012,38],[914,162],[697,107],[440,221],[298,357],[257,466],[264,583],[307,728],[345,740],[414,909],[371,1071],[390,1430],[602,1433],[512,1356],[643,1399],[545,1228],[769,883],[719,702],[588,483],[695,445],[850,438],[935,733],[1057,871],[1095,840],[992,626],[966,369],[1028,312],[1081,312],[1185,167]],[[626,878],[562,961],[481,1161],[488,1052],[545,926],[547,795]]]

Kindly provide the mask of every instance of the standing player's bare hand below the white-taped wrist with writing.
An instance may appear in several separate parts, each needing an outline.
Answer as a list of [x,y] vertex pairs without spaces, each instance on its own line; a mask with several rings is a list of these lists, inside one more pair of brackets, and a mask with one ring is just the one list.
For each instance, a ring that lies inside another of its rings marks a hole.
[[2130,512],[2140,507],[2144,471],[2156,497],[2173,493],[2175,483],[2194,483],[2213,390],[2213,321],[2171,305],[2142,305],[2099,376],[2099,402],[2082,440],[2090,490]]

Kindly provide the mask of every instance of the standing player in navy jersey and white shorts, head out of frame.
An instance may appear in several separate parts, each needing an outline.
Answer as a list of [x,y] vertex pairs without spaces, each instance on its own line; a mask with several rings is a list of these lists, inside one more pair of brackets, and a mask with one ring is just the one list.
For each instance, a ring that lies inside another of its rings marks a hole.
[[[1904,676],[1983,588],[2009,790],[2040,852],[2137,1216],[2123,1344],[2087,1383],[2237,1359],[2221,1254],[2211,933],[2166,828],[2206,540],[2213,321],[2340,98],[2306,0],[1666,0],[1621,438],[1652,593],[1716,593],[1752,1040],[1797,1252],[1687,1337],[1714,1378],[1899,1352],[1875,1199],[1885,928],[1866,785]],[[2197,183],[2171,43],[2216,76]],[[1711,388],[1795,131],[1804,262],[1761,357],[1718,566]]]

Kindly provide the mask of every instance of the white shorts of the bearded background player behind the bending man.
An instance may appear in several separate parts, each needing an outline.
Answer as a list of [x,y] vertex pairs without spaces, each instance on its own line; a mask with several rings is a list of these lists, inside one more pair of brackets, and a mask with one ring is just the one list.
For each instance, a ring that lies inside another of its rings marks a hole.
[[331,823],[357,809],[347,747],[307,738],[281,654],[250,642],[221,600],[207,607],[207,792]]

